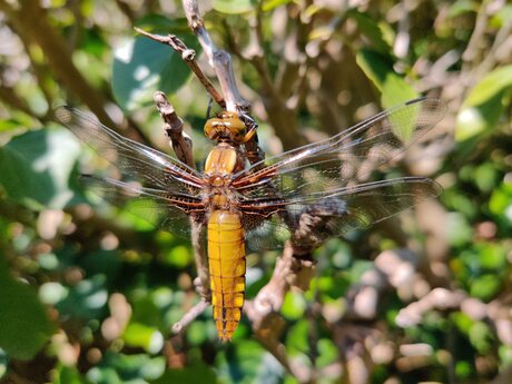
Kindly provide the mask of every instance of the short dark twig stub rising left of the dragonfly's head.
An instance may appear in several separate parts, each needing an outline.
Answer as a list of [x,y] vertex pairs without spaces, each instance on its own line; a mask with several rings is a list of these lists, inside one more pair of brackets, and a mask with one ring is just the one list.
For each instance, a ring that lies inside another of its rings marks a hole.
[[193,142],[190,137],[184,132],[183,120],[176,115],[173,105],[167,100],[164,92],[155,92],[154,100],[164,120],[164,130],[167,137],[170,138],[176,156],[190,168],[195,168],[191,151]]

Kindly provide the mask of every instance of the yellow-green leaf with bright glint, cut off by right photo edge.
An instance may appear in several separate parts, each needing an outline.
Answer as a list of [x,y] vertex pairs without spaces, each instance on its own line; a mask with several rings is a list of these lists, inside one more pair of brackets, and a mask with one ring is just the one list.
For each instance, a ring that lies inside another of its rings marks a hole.
[[464,141],[494,128],[512,91],[512,65],[489,72],[470,92],[456,118],[455,139]]

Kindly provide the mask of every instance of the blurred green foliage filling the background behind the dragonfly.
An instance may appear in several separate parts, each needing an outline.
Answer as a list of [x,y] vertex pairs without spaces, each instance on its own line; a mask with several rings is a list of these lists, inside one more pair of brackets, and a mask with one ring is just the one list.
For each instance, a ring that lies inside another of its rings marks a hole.
[[[347,351],[364,356],[357,370],[371,383],[484,383],[510,374],[511,4],[352,1],[346,8],[343,1],[216,0],[207,10],[206,26],[218,47],[233,53],[268,154],[296,145],[285,142],[284,131],[295,125],[301,135],[293,138],[317,139],[420,93],[439,96],[450,109],[439,128],[449,138],[424,155],[434,164],[422,170],[446,189],[427,213],[434,225],[411,224],[422,220],[410,214],[333,239],[315,252],[309,289],[286,295],[286,356],[315,375],[294,377],[291,372],[301,370],[284,366],[257,343],[246,319],[230,344],[217,341],[211,311],[183,335],[171,334],[199,299],[189,243],[85,196],[79,169],[104,165],[52,122],[52,108],[62,104],[100,117],[102,111],[114,122],[126,114],[125,134],[138,131],[139,139],[164,147],[150,106],[158,89],[189,124],[196,158],[204,157],[206,92],[176,52],[132,31],[137,26],[176,33],[200,57],[179,1],[43,3],[0,0],[0,380],[347,383],[352,358],[360,356]],[[47,30],[37,29],[41,20]],[[254,49],[255,35],[262,51],[250,56],[246,48]],[[48,58],[61,42],[69,62],[55,65]],[[199,63],[207,67],[203,57]],[[83,78],[62,80],[68,65]],[[306,92],[296,95],[295,109],[279,107],[301,87]],[[404,293],[390,284],[374,315],[346,316],[376,256],[400,247],[422,255],[419,283],[410,285],[415,288]],[[268,280],[278,255],[249,255],[249,298]],[[433,305],[414,324],[398,326],[401,311],[435,287],[463,293],[466,305]],[[407,355],[402,345],[427,345],[430,352]]]

